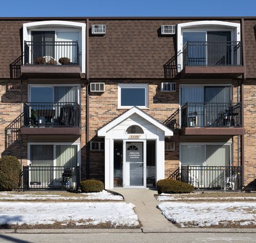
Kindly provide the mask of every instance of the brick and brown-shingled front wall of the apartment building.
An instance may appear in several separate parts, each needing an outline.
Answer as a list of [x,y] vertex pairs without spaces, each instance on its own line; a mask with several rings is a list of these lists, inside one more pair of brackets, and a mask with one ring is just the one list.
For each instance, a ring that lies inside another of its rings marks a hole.
[[[50,19],[47,19],[50,20]],[[64,21],[66,19],[63,19]],[[86,133],[90,141],[103,141],[97,136],[97,131],[109,122],[123,114],[125,109],[117,107],[118,83],[145,83],[148,84],[148,109],[144,111],[160,122],[164,122],[179,108],[179,85],[195,84],[197,82],[216,84],[233,84],[233,102],[241,102],[244,95],[244,150],[242,150],[242,136],[180,136],[178,129],[173,129],[175,142],[174,151],[165,151],[165,177],[169,177],[179,167],[180,142],[204,142],[233,140],[233,164],[240,165],[244,160],[244,185],[256,186],[256,60],[255,60],[255,19],[244,19],[244,49],[246,61],[246,79],[180,79],[177,71],[171,75],[166,72],[166,62],[177,54],[177,37],[161,36],[161,25],[177,25],[177,23],[199,21],[202,19],[89,19],[89,28],[93,24],[106,24],[107,33],[103,36],[88,38],[87,60],[89,70],[86,79],[77,79],[76,84],[81,84],[81,137],[49,136],[42,135],[42,141],[74,141],[81,142],[81,175],[95,179],[104,179],[105,160],[104,151],[90,151],[88,160],[86,147]],[[221,20],[221,19],[218,19]],[[29,137],[20,134],[22,120],[22,103],[28,101],[29,83],[62,82],[58,79],[14,79],[9,65],[22,54],[22,25],[25,22],[40,21],[39,19],[0,19],[0,152],[1,156],[14,155],[22,160],[22,165],[27,165],[27,142],[39,141],[39,137]],[[68,21],[86,22],[86,18],[69,19]],[[242,20],[222,19],[240,23]],[[177,91],[171,93],[161,92],[162,82],[175,82]],[[63,79],[63,83],[74,80]],[[89,82],[104,82],[104,93],[89,92],[89,106],[86,103],[86,87]],[[242,95],[242,82],[244,94]],[[237,96],[238,93],[238,96]],[[86,109],[89,117],[86,117]],[[86,127],[86,119],[89,128]],[[7,136],[7,129],[11,136]],[[244,154],[244,158],[243,157]],[[86,174],[88,168],[90,175]]]

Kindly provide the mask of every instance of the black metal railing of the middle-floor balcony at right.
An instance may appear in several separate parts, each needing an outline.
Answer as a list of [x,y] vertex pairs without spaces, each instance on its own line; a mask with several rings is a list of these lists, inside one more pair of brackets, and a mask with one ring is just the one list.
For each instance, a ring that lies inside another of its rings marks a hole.
[[186,103],[181,127],[241,127],[240,103]]

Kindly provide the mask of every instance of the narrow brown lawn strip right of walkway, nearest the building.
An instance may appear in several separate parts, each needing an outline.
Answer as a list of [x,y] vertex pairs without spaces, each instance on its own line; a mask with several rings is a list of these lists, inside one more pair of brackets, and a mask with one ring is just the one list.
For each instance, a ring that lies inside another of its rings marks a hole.
[[194,192],[157,195],[158,201],[256,201],[256,193],[247,192]]

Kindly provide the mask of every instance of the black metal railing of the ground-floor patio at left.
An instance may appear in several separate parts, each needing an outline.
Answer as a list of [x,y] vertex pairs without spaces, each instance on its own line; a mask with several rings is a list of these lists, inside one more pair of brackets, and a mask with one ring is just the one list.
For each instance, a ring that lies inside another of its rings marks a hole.
[[23,190],[66,190],[79,188],[79,166],[23,166]]

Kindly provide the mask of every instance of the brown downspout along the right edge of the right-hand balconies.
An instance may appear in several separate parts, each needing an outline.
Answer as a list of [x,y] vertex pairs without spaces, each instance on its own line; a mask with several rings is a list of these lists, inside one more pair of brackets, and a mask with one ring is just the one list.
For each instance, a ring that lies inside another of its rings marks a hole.
[[[244,40],[244,19],[241,19],[241,30],[242,30],[242,55],[243,55],[243,66],[245,68],[243,80],[241,83],[241,124],[244,128],[244,80],[246,80],[246,59],[245,59],[245,40]],[[244,134],[241,137],[241,164],[242,164],[242,187],[244,187]]]

